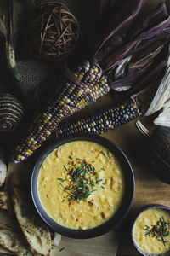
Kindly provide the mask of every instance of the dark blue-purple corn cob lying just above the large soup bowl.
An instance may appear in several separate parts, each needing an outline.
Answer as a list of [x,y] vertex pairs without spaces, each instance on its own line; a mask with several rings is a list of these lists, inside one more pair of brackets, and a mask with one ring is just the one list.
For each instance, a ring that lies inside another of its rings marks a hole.
[[55,131],[56,137],[66,137],[76,132],[101,134],[113,130],[118,125],[123,125],[139,116],[139,110],[133,102],[128,100],[117,106],[110,106],[99,110],[94,115],[77,119],[74,122],[64,122]]

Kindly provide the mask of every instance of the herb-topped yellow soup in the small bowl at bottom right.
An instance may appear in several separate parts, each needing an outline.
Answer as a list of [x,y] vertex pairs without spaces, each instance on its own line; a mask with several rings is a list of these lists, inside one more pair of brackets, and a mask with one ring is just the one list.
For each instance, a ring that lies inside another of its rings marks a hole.
[[139,215],[133,238],[146,253],[166,253],[170,249],[170,214],[166,210],[150,208]]

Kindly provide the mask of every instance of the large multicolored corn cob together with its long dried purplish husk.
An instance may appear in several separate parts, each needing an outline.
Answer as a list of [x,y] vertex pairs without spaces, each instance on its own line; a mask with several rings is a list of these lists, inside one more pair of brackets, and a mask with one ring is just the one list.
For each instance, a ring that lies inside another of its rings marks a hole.
[[[96,49],[91,56],[94,61],[93,67],[95,68],[97,65],[97,71],[99,69],[99,76],[102,74],[106,74],[107,78],[108,75],[110,76],[110,79],[106,81],[108,85],[106,92],[111,88],[115,90],[114,86],[117,81],[115,82],[114,74],[116,73],[116,78],[124,79],[124,83],[122,80],[119,81],[116,90],[126,90],[121,92],[122,97],[132,96],[147,87],[153,76],[154,79],[159,78],[164,71],[165,63],[167,65],[170,17],[167,15],[166,5],[161,3],[148,14],[147,19],[143,22],[141,16],[137,17],[143,3],[144,0],[115,0],[112,2],[111,14],[108,15],[111,22],[110,24],[108,22],[108,26],[106,26],[108,30],[95,44]],[[82,70],[82,67],[80,69]],[[74,70],[71,69],[69,72],[66,70],[68,68],[64,71],[66,83],[62,85],[61,91],[59,94],[54,94],[48,105],[37,114],[29,128],[28,135],[17,148],[14,154],[16,163],[26,160],[31,154],[34,154],[34,151],[40,148],[42,143],[58,128],[61,121],[87,106],[86,97],[93,96],[94,86],[88,87],[91,81],[88,83],[88,80],[83,78],[83,73],[86,72],[83,71],[79,74],[74,73]],[[77,68],[75,70],[77,71]],[[94,79],[95,75],[93,75],[92,81]],[[111,79],[114,80],[112,84],[110,84]],[[80,80],[84,84],[81,84]],[[74,88],[71,87],[72,82]],[[103,82],[105,83],[105,81]],[[67,86],[70,86],[68,91]],[[87,87],[88,90],[86,90]],[[73,90],[75,93],[72,93]],[[82,101],[81,108],[77,108],[79,95]],[[95,97],[95,101],[100,96],[104,96],[104,93]]]

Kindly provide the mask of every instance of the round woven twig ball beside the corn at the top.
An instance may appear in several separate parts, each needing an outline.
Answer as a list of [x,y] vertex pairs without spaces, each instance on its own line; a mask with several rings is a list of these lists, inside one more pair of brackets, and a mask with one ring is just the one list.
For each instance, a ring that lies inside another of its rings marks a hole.
[[80,38],[77,18],[63,3],[41,3],[28,29],[28,49],[38,59],[61,61],[74,52]]

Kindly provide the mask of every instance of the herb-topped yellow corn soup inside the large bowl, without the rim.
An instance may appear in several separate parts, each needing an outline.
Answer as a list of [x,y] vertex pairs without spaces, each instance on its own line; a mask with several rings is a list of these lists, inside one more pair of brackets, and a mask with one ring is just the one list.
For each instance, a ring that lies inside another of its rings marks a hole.
[[71,229],[91,229],[122,202],[124,179],[116,157],[98,143],[78,141],[55,149],[42,163],[38,195],[48,215]]

